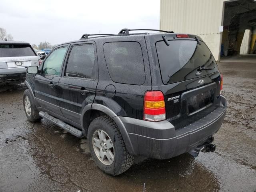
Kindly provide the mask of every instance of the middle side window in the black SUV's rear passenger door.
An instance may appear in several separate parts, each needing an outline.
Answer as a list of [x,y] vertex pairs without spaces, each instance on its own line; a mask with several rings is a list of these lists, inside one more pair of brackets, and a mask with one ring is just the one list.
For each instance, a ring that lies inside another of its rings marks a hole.
[[95,79],[96,64],[93,44],[73,46],[68,58],[68,77]]

